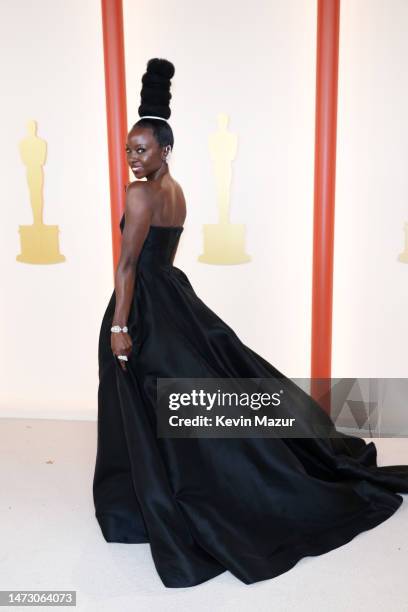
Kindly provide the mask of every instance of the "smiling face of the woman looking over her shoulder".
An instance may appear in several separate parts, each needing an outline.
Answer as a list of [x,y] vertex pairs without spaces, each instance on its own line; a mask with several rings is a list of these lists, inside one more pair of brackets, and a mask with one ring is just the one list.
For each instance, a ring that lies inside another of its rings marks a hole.
[[164,151],[153,130],[135,128],[128,134],[126,142],[127,162],[136,178],[141,179],[158,170],[163,164]]

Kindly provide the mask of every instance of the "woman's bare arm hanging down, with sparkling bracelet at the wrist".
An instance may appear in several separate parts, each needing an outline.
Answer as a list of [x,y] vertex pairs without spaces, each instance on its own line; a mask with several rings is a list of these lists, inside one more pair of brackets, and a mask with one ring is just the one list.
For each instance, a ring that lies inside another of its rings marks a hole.
[[[112,325],[127,325],[135,290],[137,261],[149,232],[151,219],[150,198],[144,181],[131,183],[126,191],[125,227],[115,272],[116,306]],[[128,356],[132,350],[129,334],[112,332],[111,348],[114,355]],[[120,364],[126,370],[125,362],[120,360]]]

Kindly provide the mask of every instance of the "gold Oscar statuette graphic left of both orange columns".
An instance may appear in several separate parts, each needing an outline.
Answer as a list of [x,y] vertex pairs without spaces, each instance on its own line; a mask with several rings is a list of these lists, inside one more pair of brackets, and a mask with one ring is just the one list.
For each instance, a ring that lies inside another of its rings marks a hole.
[[47,156],[47,143],[37,136],[37,123],[27,123],[27,136],[19,143],[20,156],[26,167],[33,224],[20,225],[20,248],[17,261],[33,264],[51,264],[65,261],[59,252],[58,225],[43,223],[43,166]]

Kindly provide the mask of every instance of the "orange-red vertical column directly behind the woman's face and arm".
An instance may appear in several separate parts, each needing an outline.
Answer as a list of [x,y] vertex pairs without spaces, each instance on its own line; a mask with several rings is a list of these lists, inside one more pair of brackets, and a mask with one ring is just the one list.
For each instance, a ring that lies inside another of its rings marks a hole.
[[125,154],[127,112],[122,0],[101,0],[101,8],[115,272],[120,256],[119,222],[125,209],[125,187],[129,182]]

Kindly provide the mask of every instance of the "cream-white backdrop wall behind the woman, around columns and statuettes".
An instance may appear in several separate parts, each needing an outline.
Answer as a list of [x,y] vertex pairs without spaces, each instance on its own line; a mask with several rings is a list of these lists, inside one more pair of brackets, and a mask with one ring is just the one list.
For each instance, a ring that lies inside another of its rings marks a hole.
[[[97,341],[113,290],[100,3],[3,6],[0,414],[96,418]],[[343,0],[340,29],[333,376],[406,376],[408,221],[403,0]],[[242,341],[291,377],[310,374],[316,3],[124,2],[129,129],[150,57],[174,62],[170,170],[188,205],[175,265]],[[208,137],[238,136],[231,221],[247,264],[200,263],[217,220]],[[66,262],[16,261],[32,222],[18,143],[48,145],[44,222]]]

